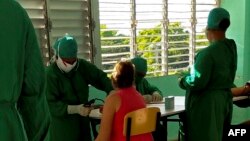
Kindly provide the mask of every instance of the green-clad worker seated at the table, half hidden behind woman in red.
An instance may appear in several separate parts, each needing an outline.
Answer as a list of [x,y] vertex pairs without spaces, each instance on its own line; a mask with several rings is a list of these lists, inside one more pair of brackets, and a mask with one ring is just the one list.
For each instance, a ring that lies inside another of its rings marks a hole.
[[131,62],[134,64],[136,71],[136,90],[143,95],[147,103],[161,101],[162,92],[156,86],[151,85],[145,78],[147,74],[147,60],[138,56],[131,59]]

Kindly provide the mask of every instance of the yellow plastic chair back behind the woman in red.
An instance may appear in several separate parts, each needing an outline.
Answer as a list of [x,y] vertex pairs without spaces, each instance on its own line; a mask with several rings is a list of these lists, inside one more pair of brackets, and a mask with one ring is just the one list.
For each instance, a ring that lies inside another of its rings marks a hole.
[[155,131],[157,123],[160,122],[160,109],[157,107],[142,108],[124,117],[123,135],[126,141],[130,141],[130,136],[150,133]]

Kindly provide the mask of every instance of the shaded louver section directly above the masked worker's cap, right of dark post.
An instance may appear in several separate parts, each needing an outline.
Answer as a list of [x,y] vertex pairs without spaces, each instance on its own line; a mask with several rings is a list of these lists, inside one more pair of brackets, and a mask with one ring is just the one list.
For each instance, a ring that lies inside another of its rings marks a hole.
[[89,0],[50,0],[49,17],[52,23],[51,44],[65,33],[78,43],[78,57],[91,60]]

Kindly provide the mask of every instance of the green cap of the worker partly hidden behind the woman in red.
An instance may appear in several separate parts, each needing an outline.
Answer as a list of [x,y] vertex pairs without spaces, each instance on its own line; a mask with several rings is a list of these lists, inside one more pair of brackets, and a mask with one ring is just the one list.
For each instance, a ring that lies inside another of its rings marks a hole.
[[131,62],[135,65],[136,72],[147,73],[147,60],[141,57],[135,57],[131,59]]

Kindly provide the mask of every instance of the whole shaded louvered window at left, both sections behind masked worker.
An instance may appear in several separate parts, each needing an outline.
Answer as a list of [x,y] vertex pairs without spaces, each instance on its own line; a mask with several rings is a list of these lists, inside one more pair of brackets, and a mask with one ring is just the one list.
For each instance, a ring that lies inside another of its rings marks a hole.
[[45,64],[53,55],[55,41],[68,33],[76,38],[78,57],[93,60],[91,0],[18,0],[37,31]]

